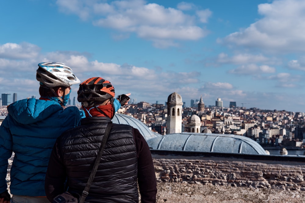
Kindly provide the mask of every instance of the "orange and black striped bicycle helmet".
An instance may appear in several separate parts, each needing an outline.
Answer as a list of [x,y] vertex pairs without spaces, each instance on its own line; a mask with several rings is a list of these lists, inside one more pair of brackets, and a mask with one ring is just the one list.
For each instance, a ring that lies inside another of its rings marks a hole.
[[112,84],[101,77],[89,78],[82,82],[79,85],[77,94],[77,101],[81,102],[85,107],[102,103],[112,99],[115,95]]

